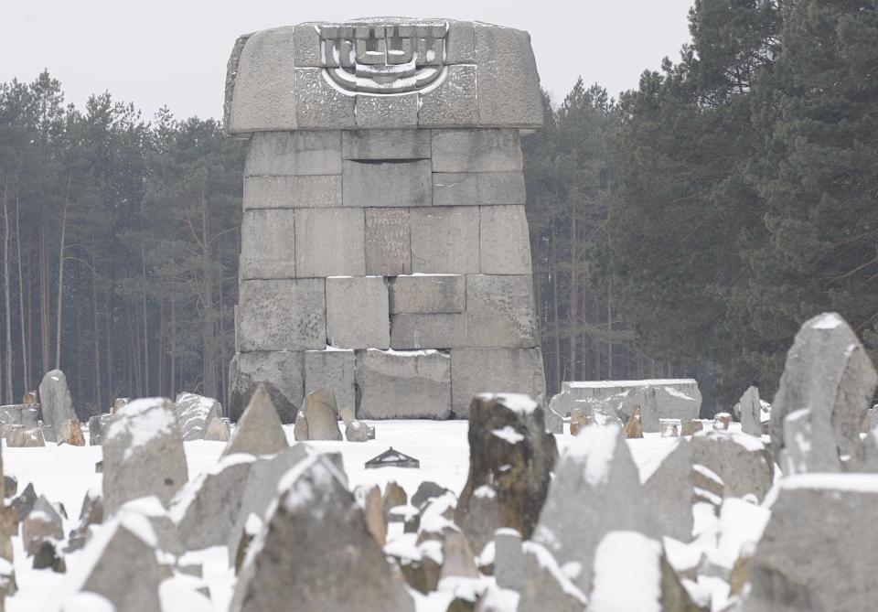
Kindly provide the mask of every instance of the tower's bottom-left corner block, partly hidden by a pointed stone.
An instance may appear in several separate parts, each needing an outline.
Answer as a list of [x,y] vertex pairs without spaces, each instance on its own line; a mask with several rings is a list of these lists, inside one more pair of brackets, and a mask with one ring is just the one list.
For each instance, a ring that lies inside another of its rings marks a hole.
[[256,387],[264,384],[281,422],[293,423],[305,397],[303,355],[285,351],[236,354],[229,367],[230,419],[241,418]]

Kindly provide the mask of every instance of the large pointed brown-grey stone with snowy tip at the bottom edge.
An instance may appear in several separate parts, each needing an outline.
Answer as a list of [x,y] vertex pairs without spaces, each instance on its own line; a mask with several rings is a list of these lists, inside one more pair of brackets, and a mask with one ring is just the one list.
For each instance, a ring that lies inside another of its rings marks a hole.
[[413,612],[412,597],[366,529],[337,467],[308,457],[279,489],[241,568],[230,612],[273,612],[292,601],[301,612]]

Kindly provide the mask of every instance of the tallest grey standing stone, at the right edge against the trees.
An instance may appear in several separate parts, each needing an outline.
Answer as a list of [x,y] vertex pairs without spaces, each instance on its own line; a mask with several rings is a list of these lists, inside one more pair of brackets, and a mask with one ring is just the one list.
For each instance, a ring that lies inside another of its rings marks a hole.
[[792,444],[784,433],[787,414],[809,410],[808,471],[841,471],[859,450],[862,421],[872,406],[876,385],[878,373],[872,360],[844,319],[835,313],[809,319],[787,353],[772,403],[773,456],[779,459]]

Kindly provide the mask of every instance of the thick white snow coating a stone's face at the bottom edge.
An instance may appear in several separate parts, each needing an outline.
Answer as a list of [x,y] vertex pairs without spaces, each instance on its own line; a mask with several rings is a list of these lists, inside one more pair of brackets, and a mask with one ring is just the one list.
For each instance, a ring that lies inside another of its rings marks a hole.
[[661,612],[660,558],[661,544],[642,533],[607,533],[594,552],[589,612]]

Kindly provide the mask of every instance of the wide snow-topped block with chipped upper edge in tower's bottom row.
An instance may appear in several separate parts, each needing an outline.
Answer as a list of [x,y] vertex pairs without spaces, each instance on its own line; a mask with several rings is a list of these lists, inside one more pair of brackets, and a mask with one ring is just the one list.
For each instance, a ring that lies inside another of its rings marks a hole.
[[444,419],[451,413],[451,360],[436,350],[357,353],[358,419]]

